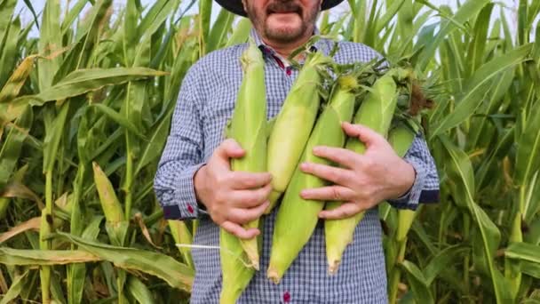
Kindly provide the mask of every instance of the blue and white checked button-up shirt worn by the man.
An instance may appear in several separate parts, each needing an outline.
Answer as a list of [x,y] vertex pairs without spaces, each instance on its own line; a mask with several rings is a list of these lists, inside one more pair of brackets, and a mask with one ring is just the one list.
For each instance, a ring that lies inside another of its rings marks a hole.
[[[298,70],[284,64],[262,43],[251,36],[263,51],[266,68],[268,119],[282,107]],[[329,54],[334,42],[321,39],[315,48]],[[339,42],[334,60],[338,63],[369,61],[380,54],[363,44]],[[224,140],[224,127],[232,116],[236,92],[242,82],[240,56],[246,44],[211,52],[189,69],[179,92],[171,134],[155,175],[155,193],[164,217],[173,220],[199,219],[194,244],[219,245],[219,228],[198,208],[193,184],[194,173]],[[417,172],[409,193],[389,202],[398,208],[415,209],[418,203],[438,201],[439,178],[424,138],[417,134],[404,159]],[[265,216],[261,270],[242,293],[239,303],[386,303],[385,256],[377,208],[369,210],[356,228],[353,244],[345,250],[335,276],[327,273],[323,223],[294,260],[280,284],[266,278],[274,228],[274,212]],[[191,303],[218,303],[221,270],[217,249],[193,248],[195,284]]]

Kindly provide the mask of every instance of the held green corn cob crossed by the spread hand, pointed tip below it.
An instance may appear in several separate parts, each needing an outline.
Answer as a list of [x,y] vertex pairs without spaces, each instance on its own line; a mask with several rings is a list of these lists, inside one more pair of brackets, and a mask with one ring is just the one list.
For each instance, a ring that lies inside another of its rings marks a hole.
[[[392,69],[377,79],[371,91],[362,101],[354,116],[353,124],[363,124],[370,129],[386,136],[398,100],[398,89],[393,79],[397,71]],[[363,154],[365,145],[358,138],[347,140],[345,148]],[[326,210],[336,209],[341,202],[328,202]],[[326,255],[330,274],[338,271],[339,263],[345,248],[353,241],[354,229],[363,218],[364,212],[341,220],[325,220],[324,233],[326,239]]]

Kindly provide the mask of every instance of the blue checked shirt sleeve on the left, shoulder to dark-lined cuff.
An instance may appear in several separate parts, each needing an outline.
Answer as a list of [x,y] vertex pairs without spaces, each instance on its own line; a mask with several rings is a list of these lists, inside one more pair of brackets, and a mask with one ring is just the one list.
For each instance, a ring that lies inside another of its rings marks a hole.
[[195,198],[194,175],[203,166],[203,98],[195,66],[182,82],[154,179],[155,195],[166,220],[196,219],[206,213]]

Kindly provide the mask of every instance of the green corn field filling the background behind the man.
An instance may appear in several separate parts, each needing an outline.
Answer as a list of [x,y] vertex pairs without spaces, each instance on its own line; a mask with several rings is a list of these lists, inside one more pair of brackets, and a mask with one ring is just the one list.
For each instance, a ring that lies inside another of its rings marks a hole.
[[[349,0],[318,20],[436,84],[441,202],[379,206],[393,303],[540,303],[540,1],[516,2]],[[28,24],[0,0],[0,303],[187,303],[177,244],[197,223],[163,219],[156,165],[187,69],[250,21],[212,21],[211,0],[24,3]]]

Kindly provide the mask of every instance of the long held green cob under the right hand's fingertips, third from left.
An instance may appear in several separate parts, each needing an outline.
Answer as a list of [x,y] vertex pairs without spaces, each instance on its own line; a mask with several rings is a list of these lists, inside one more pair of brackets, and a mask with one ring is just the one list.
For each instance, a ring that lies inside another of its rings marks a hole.
[[[314,132],[309,137],[301,162],[330,164],[330,161],[314,156],[312,150],[315,146],[343,147],[345,133],[341,128],[344,121],[350,122],[354,114],[356,78],[341,76],[338,78],[338,87],[332,93],[330,103],[324,108],[317,120]],[[282,279],[285,271],[298,256],[312,235],[317,224],[317,213],[321,212],[323,203],[314,200],[305,200],[300,197],[300,191],[305,188],[318,188],[327,184],[311,174],[297,169],[285,191],[282,204],[279,206],[274,224],[274,236],[270,264],[267,276],[275,284]]]

